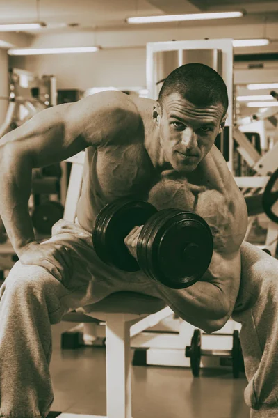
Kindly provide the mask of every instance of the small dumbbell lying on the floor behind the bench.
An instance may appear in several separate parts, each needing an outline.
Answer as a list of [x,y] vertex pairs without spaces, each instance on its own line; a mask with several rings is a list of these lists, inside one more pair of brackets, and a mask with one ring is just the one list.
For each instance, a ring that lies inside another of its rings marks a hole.
[[241,350],[238,330],[233,333],[233,347],[231,350],[202,350],[201,348],[201,331],[196,328],[193,332],[191,345],[186,347],[186,357],[190,358],[190,368],[193,376],[199,376],[201,357],[229,357],[231,358],[232,370],[234,378],[238,378],[240,371],[244,371],[243,353]]

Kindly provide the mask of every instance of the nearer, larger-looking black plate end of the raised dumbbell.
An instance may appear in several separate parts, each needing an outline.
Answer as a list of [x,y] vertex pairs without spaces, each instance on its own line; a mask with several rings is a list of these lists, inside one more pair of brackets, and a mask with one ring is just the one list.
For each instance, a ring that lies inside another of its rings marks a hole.
[[208,224],[193,212],[161,210],[142,229],[138,263],[145,274],[170,288],[186,288],[206,272],[213,254]]

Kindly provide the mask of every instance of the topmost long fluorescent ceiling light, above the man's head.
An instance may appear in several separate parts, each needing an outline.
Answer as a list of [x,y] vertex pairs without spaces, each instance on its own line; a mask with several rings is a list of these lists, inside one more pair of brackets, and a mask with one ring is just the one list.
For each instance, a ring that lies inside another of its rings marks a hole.
[[127,23],[158,23],[158,22],[182,22],[183,20],[227,19],[229,17],[242,17],[243,12],[220,13],[192,13],[189,15],[161,15],[128,17]]

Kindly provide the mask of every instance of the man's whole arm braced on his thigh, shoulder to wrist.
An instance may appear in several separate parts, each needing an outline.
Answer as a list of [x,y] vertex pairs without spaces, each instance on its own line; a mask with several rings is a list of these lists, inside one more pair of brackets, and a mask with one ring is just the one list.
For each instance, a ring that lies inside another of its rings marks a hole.
[[113,130],[130,124],[134,109],[130,100],[126,104],[128,96],[105,93],[45,109],[0,139],[0,215],[19,258],[26,245],[35,243],[28,212],[32,169],[101,145]]

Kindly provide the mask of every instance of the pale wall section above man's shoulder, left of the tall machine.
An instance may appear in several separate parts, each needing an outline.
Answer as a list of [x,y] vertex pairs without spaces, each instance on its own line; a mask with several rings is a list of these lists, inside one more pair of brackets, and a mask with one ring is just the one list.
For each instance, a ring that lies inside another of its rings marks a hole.
[[[76,58],[77,56],[77,58]],[[30,59],[31,58],[31,59]],[[10,65],[37,75],[56,76],[57,89],[92,87],[145,86],[146,51],[104,49],[92,54],[10,57]]]

